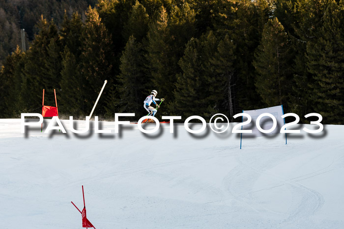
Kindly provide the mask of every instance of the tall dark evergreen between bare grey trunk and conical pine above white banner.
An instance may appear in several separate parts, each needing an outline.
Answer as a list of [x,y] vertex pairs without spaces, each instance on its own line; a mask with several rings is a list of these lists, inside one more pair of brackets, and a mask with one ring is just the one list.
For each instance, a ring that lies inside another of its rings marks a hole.
[[[257,2],[259,2],[257,4]],[[257,109],[261,106],[255,82],[257,80],[256,69],[253,65],[254,53],[262,37],[263,25],[269,18],[267,0],[260,1],[244,0],[235,2],[237,10],[233,23],[232,39],[236,44],[236,70],[237,70],[237,101],[239,109]]]

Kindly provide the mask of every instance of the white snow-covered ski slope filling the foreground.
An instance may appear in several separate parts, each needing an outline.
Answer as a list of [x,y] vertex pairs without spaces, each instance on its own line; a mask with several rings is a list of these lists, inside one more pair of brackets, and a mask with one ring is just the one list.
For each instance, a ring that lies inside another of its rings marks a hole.
[[287,145],[284,134],[243,139],[240,150],[231,128],[82,135],[68,122],[67,134],[23,134],[19,119],[0,120],[1,229],[81,229],[70,202],[83,208],[82,185],[97,229],[344,228],[344,126]]

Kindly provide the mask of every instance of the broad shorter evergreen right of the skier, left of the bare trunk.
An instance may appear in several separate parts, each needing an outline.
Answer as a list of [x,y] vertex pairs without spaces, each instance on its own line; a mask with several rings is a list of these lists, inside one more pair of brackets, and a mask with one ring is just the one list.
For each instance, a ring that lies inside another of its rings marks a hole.
[[183,73],[177,75],[173,114],[210,118],[219,111],[224,81],[217,77],[216,67],[211,63],[216,50],[217,40],[211,31],[188,42],[179,61]]

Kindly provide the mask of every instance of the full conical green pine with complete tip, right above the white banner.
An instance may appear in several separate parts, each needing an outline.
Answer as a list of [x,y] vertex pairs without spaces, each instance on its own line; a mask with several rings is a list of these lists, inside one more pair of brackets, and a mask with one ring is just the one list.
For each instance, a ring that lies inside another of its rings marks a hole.
[[277,18],[270,19],[263,29],[261,44],[255,53],[254,66],[258,76],[257,92],[267,106],[287,102],[288,39]]

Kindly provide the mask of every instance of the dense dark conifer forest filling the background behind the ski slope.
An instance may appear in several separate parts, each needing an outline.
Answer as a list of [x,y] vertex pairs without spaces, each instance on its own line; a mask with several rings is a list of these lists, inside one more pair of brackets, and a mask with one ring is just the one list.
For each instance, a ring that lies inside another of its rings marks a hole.
[[85,119],[104,80],[103,120],[139,119],[157,90],[157,118],[283,104],[343,125],[344,0],[0,0],[0,118],[56,89],[59,116]]

